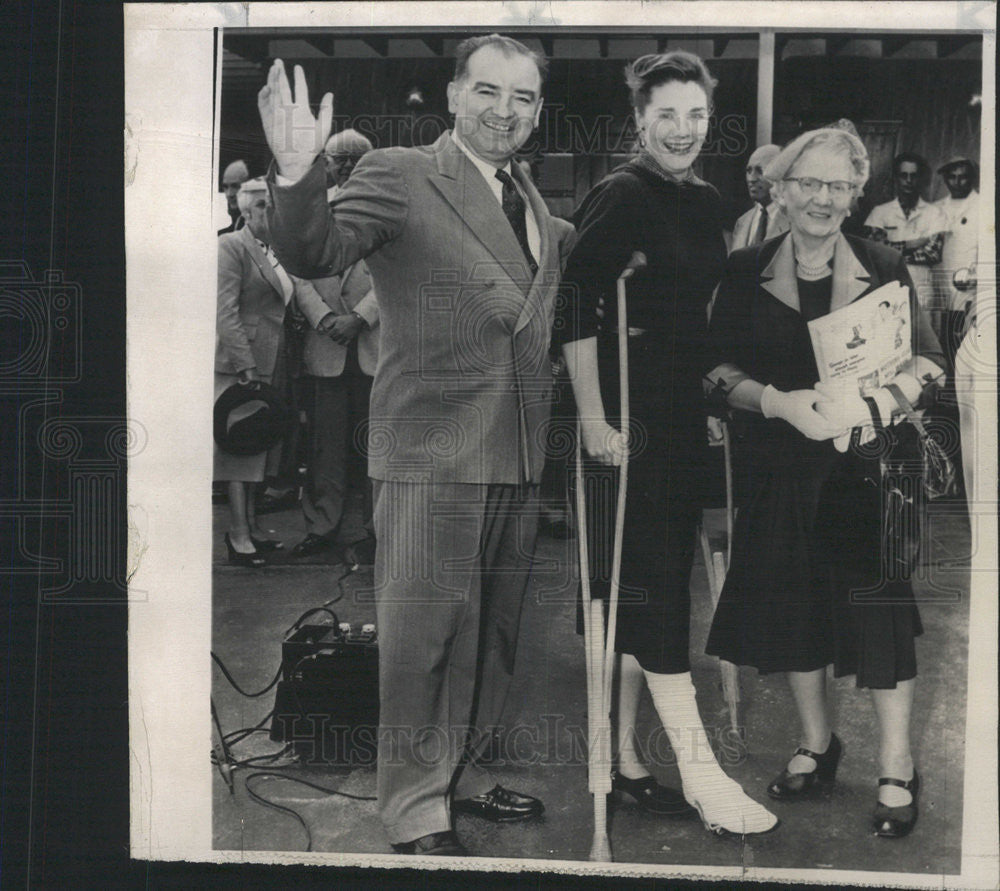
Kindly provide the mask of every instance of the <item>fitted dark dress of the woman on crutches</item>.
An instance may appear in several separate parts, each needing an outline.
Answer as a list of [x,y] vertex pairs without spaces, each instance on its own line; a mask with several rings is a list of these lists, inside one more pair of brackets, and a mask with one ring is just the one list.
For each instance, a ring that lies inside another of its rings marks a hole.
[[[644,333],[629,338],[632,447],[616,649],[650,671],[688,671],[688,581],[707,450],[701,384],[706,309],[726,257],[721,201],[708,183],[676,183],[640,157],[594,187],[577,211],[576,226],[579,240],[563,275],[556,338],[597,337],[601,394],[615,427],[615,283],[634,251],[648,261],[627,291],[628,327]],[[606,596],[610,583],[617,476],[616,468],[587,463],[595,596]]]

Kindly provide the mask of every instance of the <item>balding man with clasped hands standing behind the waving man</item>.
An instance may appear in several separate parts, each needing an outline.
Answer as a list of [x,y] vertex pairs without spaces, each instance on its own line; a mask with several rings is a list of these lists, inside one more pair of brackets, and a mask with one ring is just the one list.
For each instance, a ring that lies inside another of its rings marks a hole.
[[[335,133],[326,143],[327,198],[333,200],[372,144],[356,130]],[[378,362],[378,301],[363,260],[340,275],[318,278],[297,300],[309,328],[303,344],[302,398],[308,418],[309,457],[302,514],[306,536],[293,557],[327,550],[335,542],[364,551],[374,548],[366,526],[371,522],[368,473],[358,436],[368,424],[372,375]],[[357,496],[360,496],[358,498]],[[363,505],[361,520],[349,510]]]

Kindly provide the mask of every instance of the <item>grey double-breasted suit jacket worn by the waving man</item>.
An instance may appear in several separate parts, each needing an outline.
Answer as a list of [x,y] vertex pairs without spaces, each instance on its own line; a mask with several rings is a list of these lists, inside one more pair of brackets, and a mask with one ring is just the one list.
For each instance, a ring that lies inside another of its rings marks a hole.
[[271,232],[287,269],[331,275],[367,258],[378,294],[379,364],[369,474],[434,482],[537,482],[552,375],[556,287],[572,230],[518,165],[538,222],[532,277],[482,174],[450,133],[368,152],[327,206],[321,161],[274,183]]

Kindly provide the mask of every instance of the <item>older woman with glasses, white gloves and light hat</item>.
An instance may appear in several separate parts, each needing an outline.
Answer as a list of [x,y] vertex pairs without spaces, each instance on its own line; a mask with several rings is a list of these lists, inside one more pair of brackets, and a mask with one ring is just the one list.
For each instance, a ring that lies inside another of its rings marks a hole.
[[[848,449],[873,422],[856,391],[817,384],[807,322],[888,282],[909,289],[913,358],[894,383],[911,402],[940,381],[944,357],[903,257],[841,233],[868,179],[864,145],[842,130],[799,136],[765,173],[791,231],[733,253],[709,330],[708,378],[745,415],[754,482],[734,531],[732,564],[707,652],[786,672],[801,745],[768,786],[780,801],[828,792],[841,755],[826,697],[827,666],[871,690],[879,727],[873,831],[910,832],[919,783],[910,750],[920,617],[909,580],[882,567],[879,466]],[[874,402],[888,424],[896,409]],[[868,592],[867,596],[865,592]]]

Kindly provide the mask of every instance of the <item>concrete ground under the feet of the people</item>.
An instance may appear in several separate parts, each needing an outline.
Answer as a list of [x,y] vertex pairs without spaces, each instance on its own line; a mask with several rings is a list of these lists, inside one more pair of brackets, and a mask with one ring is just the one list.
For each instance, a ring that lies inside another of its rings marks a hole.
[[[937,509],[937,506],[935,506]],[[925,633],[918,642],[920,679],[913,740],[921,771],[921,815],[913,835],[886,841],[869,833],[874,804],[875,721],[864,691],[853,678],[833,682],[835,726],[844,743],[837,784],[829,801],[769,802],[767,781],[785,764],[797,745],[798,726],[783,678],[758,678],[741,672],[742,717],[748,747],[734,745],[720,728],[726,725],[715,660],[704,655],[711,605],[700,555],[692,574],[693,675],[699,705],[713,744],[727,771],[753,797],[768,802],[781,818],[777,831],[746,841],[719,839],[701,824],[652,817],[634,806],[615,806],[611,842],[617,862],[879,870],[901,873],[957,873],[961,852],[963,729],[968,648],[969,533],[960,505],[938,510],[927,563],[936,588],[927,583],[921,615]],[[302,535],[297,511],[264,518],[288,547]],[[713,517],[713,520],[717,517]],[[286,629],[306,609],[334,596],[340,570],[329,563],[275,565],[254,571],[226,565],[221,538],[225,508],[215,508],[213,648],[246,690],[264,687],[280,663]],[[470,851],[491,857],[586,860],[592,834],[592,797],[587,792],[586,698],[582,640],[575,633],[572,580],[566,567],[575,560],[575,543],[540,538],[538,568],[525,606],[518,666],[506,716],[507,744],[496,765],[498,780],[534,794],[546,805],[537,823],[494,826],[459,817],[456,829]],[[336,604],[342,621],[374,621],[366,589],[371,572],[355,573],[345,583],[346,596]],[[947,654],[942,658],[941,654]],[[375,691],[364,695],[374,696]],[[257,723],[271,708],[273,695],[246,699],[215,670],[213,698],[223,730]],[[657,731],[648,694],[640,709],[639,738],[650,740],[650,762],[663,782],[679,787],[669,746]],[[279,745],[257,734],[235,747],[237,757],[274,752]],[[308,768],[293,771],[328,788],[374,796],[373,767]],[[305,850],[301,826],[251,801],[244,785],[247,771],[235,774],[230,794],[221,776],[214,779],[215,847],[225,850]],[[313,851],[389,853],[374,801],[325,795],[281,779],[255,780],[257,791],[301,814],[312,833]]]

